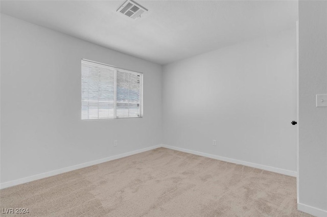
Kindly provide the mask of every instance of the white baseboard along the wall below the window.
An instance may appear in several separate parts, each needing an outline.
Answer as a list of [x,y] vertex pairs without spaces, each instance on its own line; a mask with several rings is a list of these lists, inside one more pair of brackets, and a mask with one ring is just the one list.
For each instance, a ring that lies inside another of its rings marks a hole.
[[71,166],[71,167],[65,167],[65,168],[62,168],[62,169],[59,169],[59,170],[53,170],[53,171],[50,171],[50,172],[45,172],[45,173],[41,173],[41,174],[37,174],[37,175],[33,175],[33,176],[21,178],[21,179],[16,179],[16,180],[13,180],[13,181],[4,182],[4,183],[0,184],[0,189],[6,188],[6,187],[11,187],[11,186],[18,185],[18,184],[23,184],[23,183],[34,181],[34,180],[37,180],[37,179],[46,178],[46,177],[49,177],[49,176],[58,175],[58,174],[61,174],[61,173],[65,173],[65,172],[69,172],[69,171],[73,171],[73,170],[77,170],[77,169],[81,169],[81,168],[84,168],[84,167],[93,166],[93,165],[96,165],[96,164],[101,164],[102,162],[115,160],[115,159],[119,159],[119,158],[122,158],[122,157],[127,157],[127,156],[130,156],[130,155],[133,155],[133,154],[138,154],[138,153],[149,151],[149,150],[159,148],[159,147],[161,147],[161,146],[160,145],[155,145],[155,146],[151,146],[151,147],[148,147],[148,148],[138,149],[138,150],[126,152],[126,153],[123,153],[123,154],[114,155],[114,156],[111,156],[111,157],[106,157],[106,158],[102,158],[102,159],[98,159],[98,160],[93,160],[93,161],[90,161],[90,162],[85,162],[83,164],[79,164],[79,165],[75,165],[75,166]]

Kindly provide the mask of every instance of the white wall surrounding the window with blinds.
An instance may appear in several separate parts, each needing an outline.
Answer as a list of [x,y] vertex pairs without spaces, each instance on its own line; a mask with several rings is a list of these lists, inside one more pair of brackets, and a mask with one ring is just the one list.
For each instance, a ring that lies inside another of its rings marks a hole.
[[[81,121],[82,58],[144,72],[144,118]],[[2,14],[1,78],[2,183],[161,144],[160,65]]]

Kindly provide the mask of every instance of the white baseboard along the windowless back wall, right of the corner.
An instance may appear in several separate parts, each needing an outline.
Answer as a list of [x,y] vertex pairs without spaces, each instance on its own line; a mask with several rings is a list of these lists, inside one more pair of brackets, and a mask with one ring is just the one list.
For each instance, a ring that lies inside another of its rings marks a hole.
[[271,171],[274,173],[280,173],[280,174],[293,176],[293,177],[297,176],[297,172],[291,171],[291,170],[284,170],[281,168],[275,168],[275,167],[270,167],[270,166],[265,166],[265,165],[260,165],[260,164],[254,164],[252,162],[232,159],[232,158],[228,158],[228,157],[222,157],[222,156],[218,156],[218,155],[214,155],[214,154],[207,154],[207,153],[203,153],[203,152],[199,152],[199,151],[193,151],[193,150],[179,148],[179,147],[170,146],[170,145],[161,145],[161,146],[165,147],[165,148],[177,150],[177,151],[183,151],[183,152],[190,153],[190,154],[200,155],[203,157],[209,157],[209,158],[213,158],[213,159],[217,159],[217,160],[223,160],[223,161],[231,162],[233,164],[240,164],[240,165],[244,165],[244,166],[248,166],[248,167],[254,167],[254,168],[261,169],[261,170],[267,170],[267,171]]

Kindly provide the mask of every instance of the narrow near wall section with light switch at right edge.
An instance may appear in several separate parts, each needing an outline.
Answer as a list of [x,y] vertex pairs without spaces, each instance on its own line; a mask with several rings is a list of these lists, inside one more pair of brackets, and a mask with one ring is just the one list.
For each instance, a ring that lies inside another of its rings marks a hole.
[[315,100],[322,93],[327,93],[327,2],[299,1],[298,208],[327,216],[327,107],[316,107]]

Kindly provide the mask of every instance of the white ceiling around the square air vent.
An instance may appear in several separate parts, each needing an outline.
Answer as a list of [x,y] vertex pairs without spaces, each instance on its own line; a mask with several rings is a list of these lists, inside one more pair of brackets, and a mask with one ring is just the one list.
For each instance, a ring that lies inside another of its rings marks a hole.
[[159,64],[294,27],[297,1],[1,1],[1,12]]

